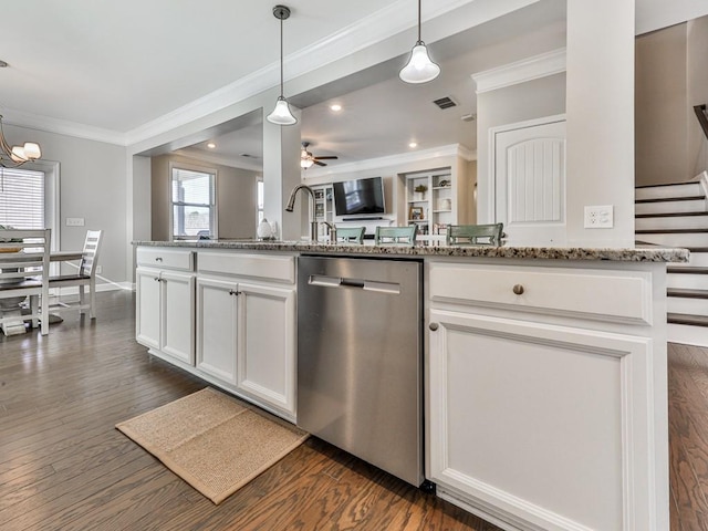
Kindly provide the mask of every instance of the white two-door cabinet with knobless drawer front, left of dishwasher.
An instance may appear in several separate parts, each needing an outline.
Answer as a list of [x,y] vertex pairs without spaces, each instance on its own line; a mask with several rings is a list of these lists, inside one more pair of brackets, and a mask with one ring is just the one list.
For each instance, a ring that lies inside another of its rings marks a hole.
[[198,271],[197,369],[294,420],[294,257],[200,251]]

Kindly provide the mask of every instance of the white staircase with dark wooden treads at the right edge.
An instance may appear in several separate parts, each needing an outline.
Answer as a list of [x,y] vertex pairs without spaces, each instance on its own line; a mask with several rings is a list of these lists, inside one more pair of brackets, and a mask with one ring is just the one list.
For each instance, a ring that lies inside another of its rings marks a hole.
[[667,268],[668,341],[708,346],[708,199],[704,186],[700,181],[639,186],[635,216],[637,244],[690,250],[689,262]]

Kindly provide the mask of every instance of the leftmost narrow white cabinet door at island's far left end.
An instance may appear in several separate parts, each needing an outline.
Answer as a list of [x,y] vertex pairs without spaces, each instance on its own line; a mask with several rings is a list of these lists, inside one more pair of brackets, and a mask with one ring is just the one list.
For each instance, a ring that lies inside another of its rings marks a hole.
[[138,268],[135,271],[135,341],[148,348],[159,350],[162,320],[159,271]]

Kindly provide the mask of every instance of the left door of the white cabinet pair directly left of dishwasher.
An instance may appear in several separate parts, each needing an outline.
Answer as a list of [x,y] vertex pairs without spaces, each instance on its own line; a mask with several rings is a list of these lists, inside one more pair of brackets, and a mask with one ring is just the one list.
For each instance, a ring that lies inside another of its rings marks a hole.
[[197,368],[236,385],[238,284],[197,279]]

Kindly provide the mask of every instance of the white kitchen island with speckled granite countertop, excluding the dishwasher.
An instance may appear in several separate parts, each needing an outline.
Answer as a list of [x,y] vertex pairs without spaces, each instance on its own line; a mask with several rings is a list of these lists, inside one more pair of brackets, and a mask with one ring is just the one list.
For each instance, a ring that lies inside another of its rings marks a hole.
[[423,261],[438,496],[504,529],[668,530],[666,262],[688,251],[136,244],[138,342],[291,421],[298,257]]

